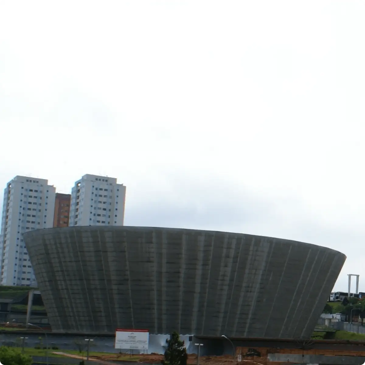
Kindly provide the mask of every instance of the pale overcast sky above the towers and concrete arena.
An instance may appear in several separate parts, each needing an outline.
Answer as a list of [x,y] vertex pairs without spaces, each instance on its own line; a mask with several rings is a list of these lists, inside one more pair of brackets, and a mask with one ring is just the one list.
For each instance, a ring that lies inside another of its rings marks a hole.
[[365,291],[364,18],[346,0],[0,0],[0,188],[116,177],[126,225],[331,247],[335,289],[354,273]]

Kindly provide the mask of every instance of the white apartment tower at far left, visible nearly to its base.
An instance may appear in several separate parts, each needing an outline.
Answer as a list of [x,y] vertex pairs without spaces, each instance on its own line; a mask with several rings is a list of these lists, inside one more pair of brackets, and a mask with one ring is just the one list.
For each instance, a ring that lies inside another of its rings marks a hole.
[[23,233],[53,227],[55,188],[48,180],[16,176],[4,189],[0,285],[35,286]]

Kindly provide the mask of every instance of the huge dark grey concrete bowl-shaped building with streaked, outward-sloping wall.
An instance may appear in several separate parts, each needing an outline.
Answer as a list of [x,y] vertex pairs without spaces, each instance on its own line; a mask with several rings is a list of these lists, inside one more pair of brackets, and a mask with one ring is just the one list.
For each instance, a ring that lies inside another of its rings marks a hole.
[[346,256],[248,234],[66,227],[24,234],[54,331],[309,338]]

